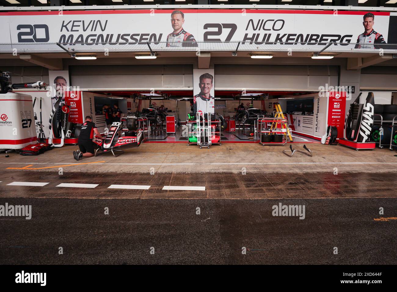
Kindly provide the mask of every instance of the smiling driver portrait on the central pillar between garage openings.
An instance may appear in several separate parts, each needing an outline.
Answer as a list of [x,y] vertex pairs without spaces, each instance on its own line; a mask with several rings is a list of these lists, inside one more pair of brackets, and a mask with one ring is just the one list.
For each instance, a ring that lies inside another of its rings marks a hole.
[[200,93],[193,97],[193,112],[214,112],[215,99],[210,91],[214,86],[214,76],[204,73],[200,76]]

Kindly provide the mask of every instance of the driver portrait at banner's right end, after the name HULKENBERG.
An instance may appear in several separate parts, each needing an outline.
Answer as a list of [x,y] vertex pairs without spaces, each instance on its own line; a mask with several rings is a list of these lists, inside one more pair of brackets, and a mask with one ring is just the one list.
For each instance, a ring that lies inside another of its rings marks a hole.
[[364,26],[364,33],[358,36],[355,48],[381,48],[376,44],[385,44],[386,41],[380,33],[377,33],[372,28],[374,26],[375,15],[368,12],[363,16],[362,25]]

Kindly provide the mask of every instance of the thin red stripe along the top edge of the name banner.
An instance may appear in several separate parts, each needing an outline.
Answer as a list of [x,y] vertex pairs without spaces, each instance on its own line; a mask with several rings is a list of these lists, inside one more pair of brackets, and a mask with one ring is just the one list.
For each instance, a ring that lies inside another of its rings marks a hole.
[[[66,8],[67,9],[67,8]],[[173,10],[85,10],[85,11],[63,11],[63,15],[83,15],[83,14],[150,14],[154,11],[154,13],[162,13],[162,14],[170,14]],[[233,14],[241,14],[241,9],[200,9],[200,10],[181,10],[183,13],[233,13]],[[245,13],[258,13],[258,14],[334,14],[334,11],[331,10],[254,10],[247,9]],[[372,12],[374,15],[383,15],[389,16],[390,12]],[[17,11],[17,12],[1,12],[0,16],[8,15],[58,15],[59,11]],[[337,11],[335,14],[337,15],[364,15],[365,11]]]

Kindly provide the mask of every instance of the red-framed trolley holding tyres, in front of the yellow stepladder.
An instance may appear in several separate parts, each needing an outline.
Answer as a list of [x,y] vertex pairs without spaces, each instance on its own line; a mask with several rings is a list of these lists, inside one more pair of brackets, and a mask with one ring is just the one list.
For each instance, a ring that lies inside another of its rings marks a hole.
[[[270,123],[268,126],[267,124]],[[274,125],[276,123],[276,125]],[[278,128],[278,124],[280,124],[280,128]],[[283,127],[283,125],[285,127]],[[272,129],[274,126],[275,129]],[[258,118],[257,120],[257,129],[259,132],[259,143],[264,145],[284,145],[287,143],[287,127],[288,121],[285,118]],[[262,143],[262,135],[273,135],[273,134],[282,134],[283,140],[282,142],[266,142]]]

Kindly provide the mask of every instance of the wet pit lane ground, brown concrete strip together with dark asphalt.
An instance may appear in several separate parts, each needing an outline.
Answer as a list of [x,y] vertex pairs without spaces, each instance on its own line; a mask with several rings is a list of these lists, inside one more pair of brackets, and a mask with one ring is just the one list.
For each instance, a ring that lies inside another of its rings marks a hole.
[[[49,184],[7,186],[13,181]],[[110,184],[151,187],[112,190]],[[162,190],[169,185],[206,190]],[[393,173],[4,170],[0,205],[32,205],[32,219],[0,217],[0,264],[395,264],[397,220],[374,219],[396,217],[396,186]],[[279,203],[305,205],[305,219],[273,217]]]

